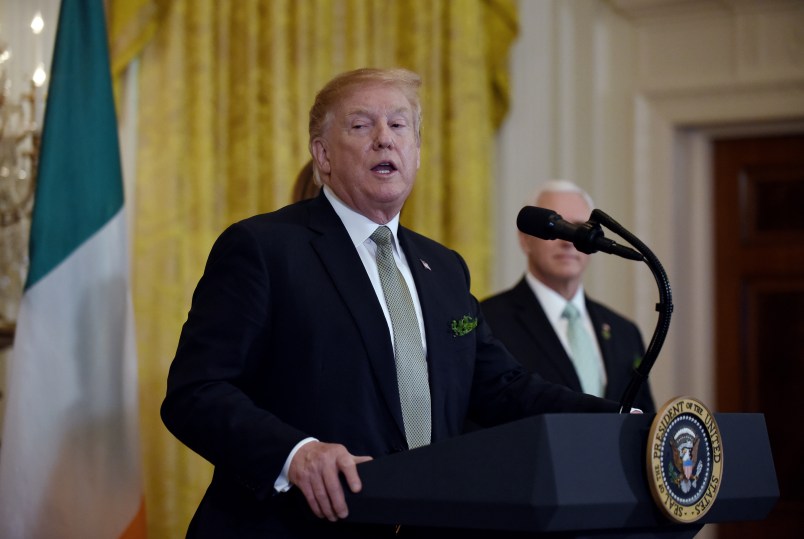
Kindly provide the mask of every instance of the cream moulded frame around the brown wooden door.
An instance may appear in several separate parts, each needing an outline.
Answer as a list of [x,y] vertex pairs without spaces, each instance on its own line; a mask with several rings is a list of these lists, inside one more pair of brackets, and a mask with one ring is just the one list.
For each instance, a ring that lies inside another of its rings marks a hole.
[[[804,131],[801,89],[642,93],[634,109],[634,229],[665,266],[675,306],[651,388],[658,406],[691,395],[717,411],[711,141]],[[639,272],[635,297],[637,319],[655,319],[649,272]]]

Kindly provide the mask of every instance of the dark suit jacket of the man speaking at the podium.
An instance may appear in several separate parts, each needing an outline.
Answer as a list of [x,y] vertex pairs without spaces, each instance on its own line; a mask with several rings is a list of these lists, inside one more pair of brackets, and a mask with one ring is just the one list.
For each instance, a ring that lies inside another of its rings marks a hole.
[[[495,424],[617,411],[616,403],[529,375],[492,337],[461,257],[403,227],[398,237],[422,306],[433,442],[460,434],[467,415]],[[451,322],[465,315],[477,328],[453,335]],[[308,436],[374,458],[407,448],[388,326],[323,194],[236,223],[218,238],[161,412],[177,438],[215,465],[189,537],[360,535],[294,503],[297,489],[273,490],[291,449]]]

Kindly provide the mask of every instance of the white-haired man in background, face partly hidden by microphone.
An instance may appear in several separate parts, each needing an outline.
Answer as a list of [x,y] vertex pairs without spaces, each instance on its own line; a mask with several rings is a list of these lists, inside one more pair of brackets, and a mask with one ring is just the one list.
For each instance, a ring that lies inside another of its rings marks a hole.
[[[589,195],[566,180],[545,182],[530,203],[573,223],[586,222],[594,209]],[[494,336],[545,379],[619,400],[645,355],[639,328],[585,294],[589,255],[564,240],[518,234],[528,259],[525,275],[513,288],[481,303]],[[647,382],[634,406],[655,411]]]

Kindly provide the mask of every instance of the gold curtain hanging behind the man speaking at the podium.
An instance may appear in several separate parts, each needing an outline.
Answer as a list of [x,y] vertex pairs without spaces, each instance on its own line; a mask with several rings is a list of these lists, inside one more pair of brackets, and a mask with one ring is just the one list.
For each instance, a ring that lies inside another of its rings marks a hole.
[[159,405],[217,235],[290,201],[307,114],[333,75],[403,66],[423,78],[422,166],[405,225],[490,275],[494,131],[508,105],[515,0],[110,0],[115,74],[139,58],[133,283],[151,538],[183,536],[211,468]]

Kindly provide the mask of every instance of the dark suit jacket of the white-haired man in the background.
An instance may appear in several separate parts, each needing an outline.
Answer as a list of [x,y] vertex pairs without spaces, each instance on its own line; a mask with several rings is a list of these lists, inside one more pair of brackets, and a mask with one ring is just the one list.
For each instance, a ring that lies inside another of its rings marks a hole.
[[[494,336],[528,370],[551,382],[581,390],[572,360],[524,278],[514,288],[484,300],[481,307]],[[631,380],[635,362],[645,355],[642,335],[633,322],[589,297],[586,308],[606,367],[605,397],[619,401]],[[648,384],[637,394],[634,406],[644,412],[655,412]]]

